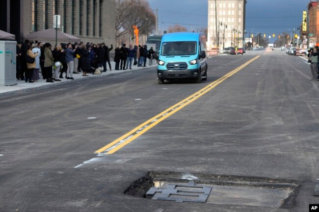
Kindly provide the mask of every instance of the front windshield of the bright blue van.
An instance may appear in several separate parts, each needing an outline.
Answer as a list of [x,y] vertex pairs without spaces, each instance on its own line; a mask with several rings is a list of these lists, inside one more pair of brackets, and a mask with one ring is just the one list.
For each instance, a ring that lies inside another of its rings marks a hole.
[[196,44],[195,41],[163,42],[161,55],[194,55],[197,51]]

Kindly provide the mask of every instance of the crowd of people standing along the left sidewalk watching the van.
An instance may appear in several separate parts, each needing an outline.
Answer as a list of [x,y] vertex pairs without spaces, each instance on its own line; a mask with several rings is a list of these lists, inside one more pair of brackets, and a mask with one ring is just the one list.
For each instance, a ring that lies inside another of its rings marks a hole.
[[[88,74],[100,74],[107,71],[112,71],[110,63],[110,51],[113,45],[106,46],[105,43],[79,44],[61,43],[52,47],[50,43],[32,42],[17,42],[17,64],[16,78],[33,83],[42,78],[46,82],[61,81],[61,78],[74,79],[73,74],[82,72],[82,76]],[[146,67],[146,60],[149,59],[151,66],[154,59],[154,50],[147,46],[134,46],[130,44],[129,48],[125,44],[122,47],[115,49],[114,62],[115,70],[132,69],[132,65],[138,67]],[[41,70],[41,71],[40,71]],[[97,71],[98,70],[98,71]],[[63,77],[63,73],[65,76]]]

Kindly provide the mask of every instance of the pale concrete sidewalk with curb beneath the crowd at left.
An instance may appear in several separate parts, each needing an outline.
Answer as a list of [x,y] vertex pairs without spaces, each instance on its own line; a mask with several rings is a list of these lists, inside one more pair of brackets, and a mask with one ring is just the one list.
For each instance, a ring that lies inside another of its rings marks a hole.
[[[45,89],[45,88],[49,88],[52,86],[57,86],[57,85],[61,85],[61,84],[66,84],[66,83],[71,83],[74,81],[80,81],[80,80],[88,80],[88,79],[93,79],[96,77],[107,77],[107,76],[113,76],[115,74],[121,74],[121,73],[128,73],[128,72],[133,72],[133,71],[137,71],[137,70],[147,70],[150,68],[156,68],[157,64],[154,61],[152,66],[148,65],[148,62],[146,63],[146,67],[137,67],[132,65],[132,69],[127,69],[127,70],[114,70],[115,68],[115,62],[111,62],[111,67],[112,67],[112,71],[109,70],[108,64],[107,64],[107,71],[106,72],[102,72],[102,74],[100,75],[96,75],[96,74],[88,74],[89,76],[82,76],[82,72],[80,72],[79,74],[73,74],[73,78],[74,80],[71,79],[60,79],[60,82],[54,82],[54,83],[48,83],[46,82],[46,80],[44,80],[42,78],[41,73],[40,75],[40,79],[37,82],[34,83],[28,83],[24,80],[16,80],[16,85],[12,85],[12,86],[0,86],[0,96],[3,95],[8,95],[8,94],[23,94],[23,93],[27,93],[27,92],[32,92],[32,91],[37,91],[37,90],[41,90],[41,89]],[[63,77],[65,77],[65,73],[63,73]]]

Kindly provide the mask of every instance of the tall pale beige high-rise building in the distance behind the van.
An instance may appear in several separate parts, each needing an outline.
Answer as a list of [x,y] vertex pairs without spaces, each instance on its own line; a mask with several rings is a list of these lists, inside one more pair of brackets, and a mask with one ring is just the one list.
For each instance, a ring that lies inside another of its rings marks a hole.
[[208,0],[207,46],[243,47],[247,0]]

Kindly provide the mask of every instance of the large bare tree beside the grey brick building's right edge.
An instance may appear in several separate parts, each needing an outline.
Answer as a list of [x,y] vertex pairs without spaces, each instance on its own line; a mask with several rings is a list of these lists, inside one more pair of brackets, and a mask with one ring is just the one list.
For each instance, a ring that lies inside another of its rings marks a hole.
[[155,14],[147,0],[116,0],[116,39],[129,34],[134,38],[133,25],[139,34],[149,34],[155,29]]

